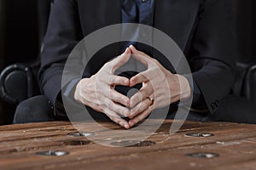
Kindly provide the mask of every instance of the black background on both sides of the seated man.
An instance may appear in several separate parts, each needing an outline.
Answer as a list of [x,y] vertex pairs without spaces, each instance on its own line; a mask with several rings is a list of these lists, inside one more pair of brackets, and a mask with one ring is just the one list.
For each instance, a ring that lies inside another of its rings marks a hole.
[[[242,56],[240,61],[248,63],[256,54],[256,11],[253,11],[253,8],[256,8],[256,1],[237,2],[237,7],[236,3],[233,5],[237,8],[236,29],[239,52]],[[37,5],[37,0],[0,0],[0,71],[4,66],[35,59],[38,56],[40,37]],[[256,58],[254,60],[256,62]],[[14,108],[14,105],[0,101],[0,125],[12,121]]]

